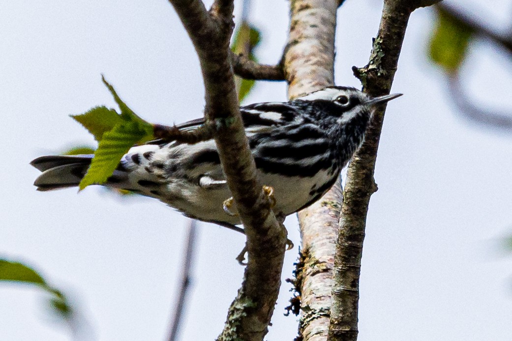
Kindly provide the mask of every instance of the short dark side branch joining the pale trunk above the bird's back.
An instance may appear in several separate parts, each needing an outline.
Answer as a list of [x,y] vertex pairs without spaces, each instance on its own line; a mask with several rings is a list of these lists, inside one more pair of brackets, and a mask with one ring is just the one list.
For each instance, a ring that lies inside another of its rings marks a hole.
[[254,80],[285,80],[281,64],[265,65],[250,60],[245,55],[231,52],[231,63],[234,73],[245,79]]

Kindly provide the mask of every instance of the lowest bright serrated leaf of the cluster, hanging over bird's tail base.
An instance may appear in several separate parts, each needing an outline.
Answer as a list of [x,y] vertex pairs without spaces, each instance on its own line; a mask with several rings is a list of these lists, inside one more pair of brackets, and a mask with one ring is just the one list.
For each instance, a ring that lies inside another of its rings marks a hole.
[[83,190],[89,185],[103,184],[114,173],[121,157],[146,134],[147,132],[140,129],[135,122],[124,122],[105,132],[98,149],[94,152],[86,176],[80,181],[79,189]]

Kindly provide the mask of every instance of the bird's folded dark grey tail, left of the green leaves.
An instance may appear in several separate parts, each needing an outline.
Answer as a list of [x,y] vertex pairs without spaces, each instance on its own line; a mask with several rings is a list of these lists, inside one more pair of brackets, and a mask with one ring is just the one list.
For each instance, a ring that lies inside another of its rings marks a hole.
[[30,164],[42,173],[35,181],[38,191],[74,187],[86,175],[93,155],[51,155],[36,158]]

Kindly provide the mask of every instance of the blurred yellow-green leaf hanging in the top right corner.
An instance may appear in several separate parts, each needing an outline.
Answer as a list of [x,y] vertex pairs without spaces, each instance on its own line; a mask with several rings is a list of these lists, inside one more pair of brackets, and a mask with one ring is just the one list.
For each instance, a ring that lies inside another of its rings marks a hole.
[[430,39],[431,60],[447,74],[457,73],[466,57],[473,33],[474,30],[463,21],[443,10],[438,10],[436,26]]

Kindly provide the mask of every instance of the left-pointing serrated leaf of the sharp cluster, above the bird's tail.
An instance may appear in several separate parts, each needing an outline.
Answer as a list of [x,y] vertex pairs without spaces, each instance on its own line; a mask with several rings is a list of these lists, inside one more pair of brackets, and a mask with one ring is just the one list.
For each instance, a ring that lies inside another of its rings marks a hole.
[[97,106],[80,115],[70,116],[89,130],[96,141],[100,141],[106,131],[111,130],[122,121],[116,110],[105,106]]

